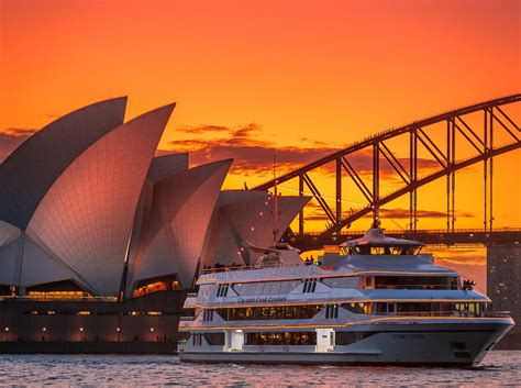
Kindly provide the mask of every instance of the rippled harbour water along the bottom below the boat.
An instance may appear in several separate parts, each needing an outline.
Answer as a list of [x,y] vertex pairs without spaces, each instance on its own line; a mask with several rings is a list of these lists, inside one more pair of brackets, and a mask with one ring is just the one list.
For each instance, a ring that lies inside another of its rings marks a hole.
[[521,351],[481,367],[406,368],[181,364],[177,356],[1,355],[0,386],[521,386]]

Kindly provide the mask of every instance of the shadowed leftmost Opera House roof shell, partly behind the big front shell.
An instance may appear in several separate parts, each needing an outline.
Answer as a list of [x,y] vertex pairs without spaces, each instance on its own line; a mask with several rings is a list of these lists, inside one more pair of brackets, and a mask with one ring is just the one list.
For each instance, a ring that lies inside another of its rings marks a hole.
[[37,131],[0,164],[0,220],[24,230],[42,198],[90,145],[121,125],[126,97],[93,103]]

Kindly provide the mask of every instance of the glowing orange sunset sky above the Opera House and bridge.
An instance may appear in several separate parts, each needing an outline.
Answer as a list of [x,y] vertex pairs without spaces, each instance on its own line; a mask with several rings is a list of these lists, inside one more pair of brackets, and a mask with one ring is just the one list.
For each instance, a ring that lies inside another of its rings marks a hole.
[[[520,92],[520,19],[517,0],[0,0],[0,160],[56,118],[129,96],[128,119],[177,101],[160,152],[189,151],[191,165],[234,157],[224,187],[253,187],[270,178],[274,153],[284,173],[375,132]],[[521,109],[506,111],[521,123]],[[404,144],[392,149],[407,156]],[[521,226],[519,165],[519,151],[495,159],[495,226]],[[334,195],[329,171],[313,178]],[[344,199],[362,201],[348,185]],[[383,185],[396,189],[396,177]],[[483,165],[456,185],[456,228],[483,228]],[[418,228],[445,228],[444,189],[444,179],[420,189]],[[407,228],[407,207],[390,203],[384,226]],[[323,229],[314,219],[307,229]],[[484,250],[437,257],[483,279]]]

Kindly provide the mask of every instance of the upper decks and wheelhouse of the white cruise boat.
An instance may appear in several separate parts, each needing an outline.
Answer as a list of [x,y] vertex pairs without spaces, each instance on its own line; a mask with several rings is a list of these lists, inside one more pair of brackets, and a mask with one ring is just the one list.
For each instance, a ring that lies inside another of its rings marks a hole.
[[199,295],[189,297],[187,304],[363,302],[389,298],[489,301],[468,285],[463,287],[457,271],[436,265],[430,254],[419,254],[422,246],[417,241],[387,237],[381,229],[373,228],[364,237],[343,244],[343,254],[324,254],[319,265],[304,263],[297,254],[297,259],[269,262],[267,266],[259,260],[252,267],[206,268],[197,280]]

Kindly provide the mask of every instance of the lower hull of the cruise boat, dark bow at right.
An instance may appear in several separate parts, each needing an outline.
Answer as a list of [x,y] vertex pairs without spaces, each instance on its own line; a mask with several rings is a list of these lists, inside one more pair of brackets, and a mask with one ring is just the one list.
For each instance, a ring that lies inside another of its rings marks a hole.
[[375,334],[351,345],[329,348],[244,345],[242,351],[226,351],[225,346],[222,351],[215,346],[196,351],[187,346],[179,356],[182,362],[193,363],[476,366],[513,324],[510,319],[501,321],[358,326],[351,330]]

